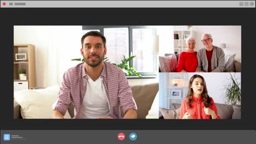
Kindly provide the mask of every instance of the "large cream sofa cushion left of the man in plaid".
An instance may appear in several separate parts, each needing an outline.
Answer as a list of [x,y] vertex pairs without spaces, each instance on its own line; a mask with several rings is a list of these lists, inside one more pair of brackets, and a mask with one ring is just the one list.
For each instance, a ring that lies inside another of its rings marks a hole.
[[[53,118],[52,105],[59,94],[59,85],[44,89],[14,92],[14,99],[21,106],[22,118]],[[68,112],[64,118],[71,118]]]

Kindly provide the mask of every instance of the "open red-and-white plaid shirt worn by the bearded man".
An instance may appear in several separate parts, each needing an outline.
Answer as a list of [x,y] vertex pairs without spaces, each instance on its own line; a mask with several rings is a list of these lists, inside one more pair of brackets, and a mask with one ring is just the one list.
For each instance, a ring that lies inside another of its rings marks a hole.
[[[136,109],[133,102],[132,91],[123,70],[113,64],[104,62],[101,73],[105,88],[110,115],[113,118],[121,118],[120,109],[125,113],[127,110]],[[79,118],[80,107],[86,93],[88,76],[85,73],[84,63],[68,69],[63,75],[60,92],[55,109],[65,115],[68,106],[74,104],[74,118]]]

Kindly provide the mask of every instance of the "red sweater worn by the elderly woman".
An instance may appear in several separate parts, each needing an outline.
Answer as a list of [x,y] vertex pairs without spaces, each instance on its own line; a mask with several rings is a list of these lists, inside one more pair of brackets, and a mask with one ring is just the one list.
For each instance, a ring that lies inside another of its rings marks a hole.
[[182,70],[188,71],[188,72],[195,72],[197,67],[197,52],[181,52],[179,54],[179,61],[178,65],[176,67],[178,72],[181,72]]

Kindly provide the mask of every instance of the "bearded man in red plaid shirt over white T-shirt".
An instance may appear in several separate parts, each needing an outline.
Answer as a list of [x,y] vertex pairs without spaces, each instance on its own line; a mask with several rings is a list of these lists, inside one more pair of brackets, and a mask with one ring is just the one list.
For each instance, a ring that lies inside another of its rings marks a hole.
[[63,118],[74,104],[74,118],[137,118],[137,106],[123,70],[103,61],[106,38],[100,32],[83,35],[81,53],[85,63],[68,69],[63,75],[54,106],[54,118]]

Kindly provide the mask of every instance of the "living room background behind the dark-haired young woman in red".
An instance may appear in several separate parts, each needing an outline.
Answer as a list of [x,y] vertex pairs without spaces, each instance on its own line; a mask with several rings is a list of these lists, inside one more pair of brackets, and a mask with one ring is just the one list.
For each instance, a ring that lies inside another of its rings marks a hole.
[[189,79],[201,75],[221,119],[241,118],[241,73],[160,73],[159,116],[179,119],[182,101],[187,98]]

